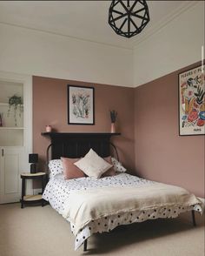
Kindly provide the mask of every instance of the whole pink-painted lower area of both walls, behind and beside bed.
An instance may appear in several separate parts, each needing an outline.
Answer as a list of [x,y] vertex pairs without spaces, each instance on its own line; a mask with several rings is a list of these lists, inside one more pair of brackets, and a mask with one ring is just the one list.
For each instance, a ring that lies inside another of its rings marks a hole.
[[[192,66],[195,66],[192,65]],[[33,77],[33,149],[44,159],[45,125],[56,131],[109,132],[109,110],[118,111],[114,138],[122,164],[146,179],[181,185],[204,197],[204,136],[179,136],[178,73],[160,77],[136,89]],[[96,125],[68,125],[67,84],[95,87]]]

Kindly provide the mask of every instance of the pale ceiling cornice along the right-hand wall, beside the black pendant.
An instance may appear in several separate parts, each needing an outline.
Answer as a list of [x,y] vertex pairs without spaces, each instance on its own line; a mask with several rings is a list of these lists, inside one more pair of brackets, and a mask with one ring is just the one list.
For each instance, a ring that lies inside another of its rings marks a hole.
[[172,20],[175,19],[175,17],[180,16],[184,11],[192,8],[193,6],[195,6],[196,3],[199,2],[201,1],[185,1],[184,3],[180,4],[179,7],[171,11],[168,16],[162,18],[162,20],[160,20],[157,24],[153,25],[150,29],[145,30],[145,33],[143,35],[138,35],[134,43],[135,45],[133,49],[136,49],[138,44],[141,44],[143,41],[154,35],[158,30],[161,30],[163,27],[169,24]]

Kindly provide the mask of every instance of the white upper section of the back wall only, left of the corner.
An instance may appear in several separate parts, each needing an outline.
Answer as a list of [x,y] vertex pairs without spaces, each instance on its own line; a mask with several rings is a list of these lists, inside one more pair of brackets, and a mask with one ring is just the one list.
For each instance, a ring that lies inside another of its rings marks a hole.
[[133,51],[0,24],[0,71],[133,86]]

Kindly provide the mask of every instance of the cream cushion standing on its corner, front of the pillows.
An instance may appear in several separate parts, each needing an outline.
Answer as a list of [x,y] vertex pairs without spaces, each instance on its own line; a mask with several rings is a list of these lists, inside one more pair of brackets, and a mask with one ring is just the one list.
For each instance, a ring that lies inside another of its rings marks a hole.
[[104,172],[112,167],[112,165],[109,165],[108,162],[99,157],[92,149],[89,150],[84,158],[74,163],[74,165],[80,168],[89,177],[96,179],[100,178]]

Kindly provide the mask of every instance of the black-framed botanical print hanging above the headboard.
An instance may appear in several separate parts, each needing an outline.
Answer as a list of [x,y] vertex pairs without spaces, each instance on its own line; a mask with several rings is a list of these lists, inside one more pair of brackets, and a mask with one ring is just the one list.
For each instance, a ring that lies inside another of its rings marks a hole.
[[95,88],[68,84],[68,124],[95,125]]

